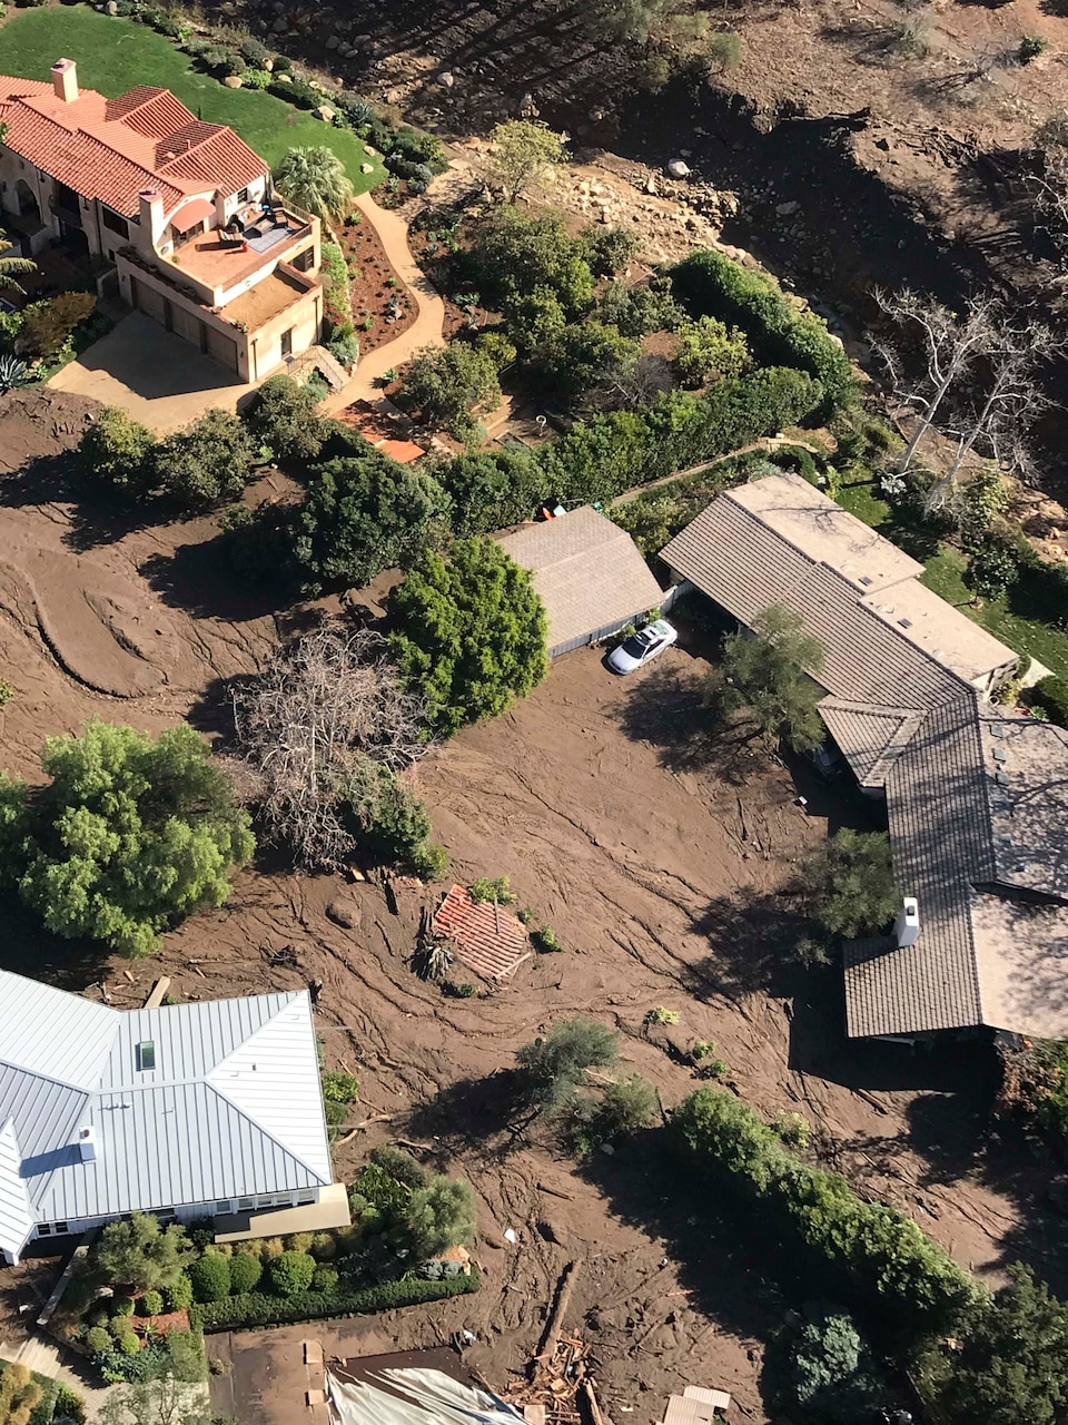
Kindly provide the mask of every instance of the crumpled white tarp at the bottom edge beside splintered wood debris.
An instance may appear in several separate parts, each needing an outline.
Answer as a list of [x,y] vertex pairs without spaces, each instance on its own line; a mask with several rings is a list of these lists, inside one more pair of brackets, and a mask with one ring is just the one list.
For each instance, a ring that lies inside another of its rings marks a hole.
[[326,1394],[340,1425],[515,1425],[523,1419],[496,1395],[461,1385],[443,1371],[389,1369],[376,1379],[390,1389],[369,1381],[339,1381],[326,1371]]

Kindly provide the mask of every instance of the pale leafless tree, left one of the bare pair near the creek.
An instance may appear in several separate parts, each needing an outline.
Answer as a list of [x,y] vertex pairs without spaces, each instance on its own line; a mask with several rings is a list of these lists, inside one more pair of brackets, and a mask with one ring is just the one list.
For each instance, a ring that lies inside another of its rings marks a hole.
[[[961,316],[909,288],[894,294],[876,291],[874,299],[904,336],[904,351],[894,341],[876,343],[894,400],[916,416],[897,467],[904,475],[943,405],[994,345],[997,302],[991,296],[973,298]],[[918,359],[910,359],[917,346]]]

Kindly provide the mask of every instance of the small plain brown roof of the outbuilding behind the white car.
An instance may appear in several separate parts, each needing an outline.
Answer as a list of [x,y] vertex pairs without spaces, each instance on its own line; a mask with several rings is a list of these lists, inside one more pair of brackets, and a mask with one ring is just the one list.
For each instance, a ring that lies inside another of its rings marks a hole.
[[664,590],[631,536],[588,504],[506,534],[501,547],[534,576],[550,653],[658,608]]

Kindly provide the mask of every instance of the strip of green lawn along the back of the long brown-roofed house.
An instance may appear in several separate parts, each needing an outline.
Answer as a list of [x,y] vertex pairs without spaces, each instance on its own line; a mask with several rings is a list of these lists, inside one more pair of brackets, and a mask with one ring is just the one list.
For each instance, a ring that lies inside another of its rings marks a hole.
[[[856,514],[864,524],[906,549],[924,564],[923,583],[940,598],[974,618],[1014,653],[1027,654],[1044,663],[1054,673],[1068,677],[1068,637],[1045,623],[1040,614],[1054,607],[1044,591],[1041,579],[1022,570],[1020,583],[1001,598],[973,607],[973,593],[964,583],[967,559],[948,544],[938,544],[928,533],[899,524],[886,500],[867,482],[843,484],[837,492],[839,504]],[[1041,573],[1041,571],[1040,571]]]

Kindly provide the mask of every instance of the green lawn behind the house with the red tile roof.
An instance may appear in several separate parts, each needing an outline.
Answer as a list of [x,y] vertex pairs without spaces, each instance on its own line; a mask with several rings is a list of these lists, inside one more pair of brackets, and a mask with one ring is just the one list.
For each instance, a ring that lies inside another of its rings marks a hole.
[[[380,182],[382,161],[367,158],[347,128],[333,128],[308,110],[271,94],[231,90],[209,74],[198,74],[174,41],[147,24],[98,14],[87,6],[17,11],[0,26],[0,74],[47,80],[60,57],[77,60],[78,83],[108,98],[135,84],[169,88],[199,118],[228,124],[272,167],[289,148],[326,144],[345,164],[356,192]],[[372,162],[375,171],[360,172]]]

